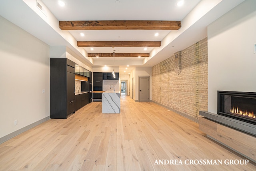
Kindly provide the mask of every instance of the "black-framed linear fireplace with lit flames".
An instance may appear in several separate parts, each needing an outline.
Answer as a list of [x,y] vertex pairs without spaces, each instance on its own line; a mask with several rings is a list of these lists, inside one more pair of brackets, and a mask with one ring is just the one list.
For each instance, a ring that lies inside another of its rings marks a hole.
[[218,114],[256,125],[256,93],[218,91]]

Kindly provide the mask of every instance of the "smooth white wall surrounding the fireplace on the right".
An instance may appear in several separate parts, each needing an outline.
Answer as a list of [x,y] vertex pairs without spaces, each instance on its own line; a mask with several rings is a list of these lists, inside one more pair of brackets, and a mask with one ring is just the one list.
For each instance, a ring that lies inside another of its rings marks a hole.
[[217,91],[256,92],[256,1],[246,0],[208,26],[208,111]]

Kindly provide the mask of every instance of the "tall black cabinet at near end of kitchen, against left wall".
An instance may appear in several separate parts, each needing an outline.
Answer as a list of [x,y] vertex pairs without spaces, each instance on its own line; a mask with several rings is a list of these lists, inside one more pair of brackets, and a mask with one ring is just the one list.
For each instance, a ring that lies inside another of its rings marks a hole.
[[50,117],[66,119],[75,112],[75,63],[50,58]]

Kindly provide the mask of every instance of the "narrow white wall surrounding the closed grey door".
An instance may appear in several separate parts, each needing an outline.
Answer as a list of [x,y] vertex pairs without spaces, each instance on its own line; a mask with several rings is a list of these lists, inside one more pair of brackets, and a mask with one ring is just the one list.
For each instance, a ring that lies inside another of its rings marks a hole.
[[150,100],[152,100],[152,67],[135,67],[135,77],[136,77],[136,85],[135,85],[135,100],[139,100],[139,76],[150,76]]

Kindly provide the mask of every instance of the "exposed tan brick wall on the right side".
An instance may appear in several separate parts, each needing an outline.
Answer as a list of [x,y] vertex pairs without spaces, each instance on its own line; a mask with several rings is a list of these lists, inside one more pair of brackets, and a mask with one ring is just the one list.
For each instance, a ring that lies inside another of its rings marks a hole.
[[152,100],[198,118],[208,109],[207,38],[181,51],[181,73],[174,71],[174,58],[152,67]]

